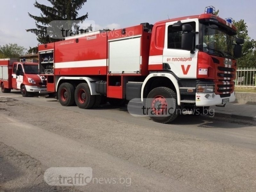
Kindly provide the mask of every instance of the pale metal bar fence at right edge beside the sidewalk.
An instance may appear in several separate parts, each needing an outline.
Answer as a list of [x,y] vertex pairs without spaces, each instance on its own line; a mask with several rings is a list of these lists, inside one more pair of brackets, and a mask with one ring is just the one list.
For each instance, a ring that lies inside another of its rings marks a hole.
[[256,89],[256,68],[237,68],[235,87],[240,89]]

